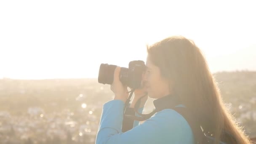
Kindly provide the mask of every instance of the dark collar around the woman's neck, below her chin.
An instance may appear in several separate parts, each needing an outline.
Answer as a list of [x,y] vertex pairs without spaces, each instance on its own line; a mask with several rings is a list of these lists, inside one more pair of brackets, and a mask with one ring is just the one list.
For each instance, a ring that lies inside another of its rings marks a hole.
[[177,96],[173,94],[169,94],[167,96],[163,96],[159,99],[155,99],[153,101],[155,109],[162,110],[162,109],[173,109],[173,107],[181,104]]

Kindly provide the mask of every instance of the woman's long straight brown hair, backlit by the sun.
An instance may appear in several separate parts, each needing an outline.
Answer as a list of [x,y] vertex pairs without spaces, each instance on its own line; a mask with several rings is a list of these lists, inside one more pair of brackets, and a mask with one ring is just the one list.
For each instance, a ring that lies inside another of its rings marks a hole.
[[[221,93],[207,61],[192,40],[185,37],[168,37],[147,47],[150,61],[160,68],[163,77],[169,80],[170,93],[179,100],[200,122],[204,132],[211,132],[215,144],[223,131],[234,139],[230,143],[250,144],[242,128],[229,113],[221,99]],[[144,115],[149,118],[155,112]]]

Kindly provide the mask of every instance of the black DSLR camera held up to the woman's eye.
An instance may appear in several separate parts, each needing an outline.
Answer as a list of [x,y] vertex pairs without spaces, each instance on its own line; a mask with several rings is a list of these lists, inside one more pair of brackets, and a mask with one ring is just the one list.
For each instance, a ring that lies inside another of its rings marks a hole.
[[[114,80],[116,65],[101,64],[99,68],[98,82],[111,85]],[[141,87],[142,74],[146,70],[144,61],[131,61],[129,68],[121,67],[119,79],[123,85],[132,89]]]

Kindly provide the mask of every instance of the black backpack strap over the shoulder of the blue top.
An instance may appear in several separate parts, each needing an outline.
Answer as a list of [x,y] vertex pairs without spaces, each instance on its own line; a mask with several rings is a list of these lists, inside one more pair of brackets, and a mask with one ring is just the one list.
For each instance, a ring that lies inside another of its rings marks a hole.
[[205,141],[204,141],[205,135],[201,129],[200,124],[192,115],[192,113],[187,112],[185,107],[174,107],[173,110],[178,112],[187,120],[187,123],[192,129],[196,144],[205,144]]

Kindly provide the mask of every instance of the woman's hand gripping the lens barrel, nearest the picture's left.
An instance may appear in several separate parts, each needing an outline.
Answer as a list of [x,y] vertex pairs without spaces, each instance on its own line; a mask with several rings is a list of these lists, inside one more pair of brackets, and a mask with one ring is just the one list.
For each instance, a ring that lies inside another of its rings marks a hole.
[[123,85],[119,79],[120,70],[120,67],[115,68],[114,80],[112,85],[110,85],[110,89],[115,93],[114,99],[119,99],[125,102],[128,99],[129,93],[127,86]]

